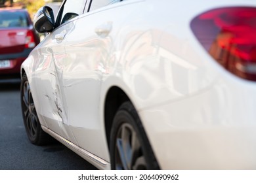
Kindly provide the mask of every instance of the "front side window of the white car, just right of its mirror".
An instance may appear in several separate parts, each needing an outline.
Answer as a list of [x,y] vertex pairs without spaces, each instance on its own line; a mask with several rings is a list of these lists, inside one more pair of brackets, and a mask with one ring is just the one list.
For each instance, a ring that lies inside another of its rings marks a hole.
[[83,13],[86,0],[67,0],[62,11],[61,24]]

